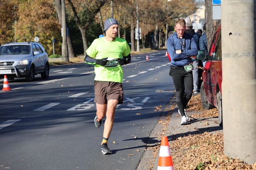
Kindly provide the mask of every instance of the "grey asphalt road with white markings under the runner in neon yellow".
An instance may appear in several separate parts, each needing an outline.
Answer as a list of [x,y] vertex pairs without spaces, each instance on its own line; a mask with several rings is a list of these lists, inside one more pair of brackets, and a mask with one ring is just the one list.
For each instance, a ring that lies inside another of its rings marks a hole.
[[0,169],[135,170],[162,114],[155,107],[164,108],[174,95],[164,55],[150,53],[149,61],[136,55],[123,66],[124,103],[108,141],[112,155],[101,153],[103,125],[93,123],[92,66],[51,67],[47,80],[9,80],[12,90],[0,92]]

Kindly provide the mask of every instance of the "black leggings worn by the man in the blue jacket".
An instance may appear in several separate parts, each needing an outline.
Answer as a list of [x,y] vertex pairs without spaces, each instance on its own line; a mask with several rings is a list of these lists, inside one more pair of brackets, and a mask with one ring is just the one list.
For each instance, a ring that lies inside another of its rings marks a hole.
[[184,109],[187,107],[187,103],[189,103],[193,93],[192,71],[187,72],[184,67],[171,66],[169,74],[172,76],[176,89],[176,102],[180,110],[180,114],[181,116],[184,116]]

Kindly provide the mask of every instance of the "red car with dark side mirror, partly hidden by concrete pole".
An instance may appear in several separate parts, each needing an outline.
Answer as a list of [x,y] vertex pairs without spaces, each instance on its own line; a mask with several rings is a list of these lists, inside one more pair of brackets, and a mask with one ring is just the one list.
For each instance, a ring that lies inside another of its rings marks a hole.
[[199,50],[199,60],[207,60],[202,73],[201,102],[205,109],[218,109],[219,125],[222,126],[222,63],[221,63],[221,25],[217,28],[209,48],[209,55]]

